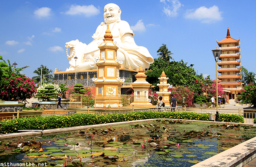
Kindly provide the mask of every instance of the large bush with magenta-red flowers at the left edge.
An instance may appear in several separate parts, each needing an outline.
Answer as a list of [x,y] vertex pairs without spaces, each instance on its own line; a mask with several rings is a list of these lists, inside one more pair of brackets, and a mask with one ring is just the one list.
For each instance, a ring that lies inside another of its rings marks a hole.
[[20,74],[22,68],[13,68],[13,65],[8,64],[0,56],[0,99],[4,101],[22,101],[31,98],[36,93],[36,85],[32,79]]

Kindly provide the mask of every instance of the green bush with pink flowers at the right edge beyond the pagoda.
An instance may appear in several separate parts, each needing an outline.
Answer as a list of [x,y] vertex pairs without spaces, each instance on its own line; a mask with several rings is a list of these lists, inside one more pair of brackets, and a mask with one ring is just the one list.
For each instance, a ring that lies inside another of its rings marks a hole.
[[256,107],[256,83],[243,86],[241,90],[242,103]]

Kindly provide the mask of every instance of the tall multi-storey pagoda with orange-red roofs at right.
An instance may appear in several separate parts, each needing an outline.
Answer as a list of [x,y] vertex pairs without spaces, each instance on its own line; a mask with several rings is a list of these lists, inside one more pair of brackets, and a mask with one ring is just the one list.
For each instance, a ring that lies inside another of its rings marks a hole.
[[240,60],[240,39],[236,40],[231,38],[230,29],[227,28],[226,38],[220,42],[217,40],[218,46],[222,50],[220,55],[220,62],[218,65],[220,69],[218,72],[221,74],[218,79],[221,80],[220,84],[223,85],[224,89],[230,90],[229,99],[236,99],[236,95],[241,92],[241,82],[237,80],[241,79]]

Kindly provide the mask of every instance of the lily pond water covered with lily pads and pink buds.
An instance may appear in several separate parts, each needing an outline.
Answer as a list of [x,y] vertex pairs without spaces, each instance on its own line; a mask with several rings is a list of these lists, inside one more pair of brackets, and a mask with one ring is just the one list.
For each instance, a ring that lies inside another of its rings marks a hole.
[[253,126],[178,120],[102,126],[68,134],[1,140],[0,163],[190,167],[255,137],[255,132]]

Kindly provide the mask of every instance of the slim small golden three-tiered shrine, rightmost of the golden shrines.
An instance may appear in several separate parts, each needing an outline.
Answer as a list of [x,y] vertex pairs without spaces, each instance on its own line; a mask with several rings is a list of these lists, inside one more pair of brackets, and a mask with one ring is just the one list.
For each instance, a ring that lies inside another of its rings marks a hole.
[[[167,80],[169,79],[168,77],[166,77],[164,70],[162,72],[162,74],[160,75],[160,78],[158,78],[160,80],[160,84],[158,84],[159,86],[159,92],[157,92],[158,97],[162,96],[163,97],[163,102],[165,104],[165,107],[170,107],[170,94],[171,92],[168,92],[168,87],[170,86],[170,84],[167,84]],[[159,102],[159,98],[158,98],[158,102]]]

